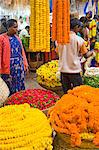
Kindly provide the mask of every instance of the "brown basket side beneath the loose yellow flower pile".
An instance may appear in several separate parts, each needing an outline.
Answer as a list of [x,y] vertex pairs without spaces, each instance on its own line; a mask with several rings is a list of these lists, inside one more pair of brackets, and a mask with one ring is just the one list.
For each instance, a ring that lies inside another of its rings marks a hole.
[[48,87],[46,85],[42,85],[42,84],[39,84],[41,87],[43,87],[44,89],[47,89],[47,90],[50,90],[50,91],[53,91],[55,92],[57,95],[59,95],[60,97],[62,97],[64,95],[63,93],[63,90],[62,90],[62,87],[61,86],[57,86],[57,87]]

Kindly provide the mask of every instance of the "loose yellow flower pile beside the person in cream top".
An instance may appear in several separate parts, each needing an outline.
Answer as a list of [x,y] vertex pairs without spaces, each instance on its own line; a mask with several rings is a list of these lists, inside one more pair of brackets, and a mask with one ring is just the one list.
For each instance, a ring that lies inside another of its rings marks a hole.
[[56,76],[57,71],[58,60],[52,60],[42,65],[36,72],[38,83],[52,88],[61,86],[60,79]]

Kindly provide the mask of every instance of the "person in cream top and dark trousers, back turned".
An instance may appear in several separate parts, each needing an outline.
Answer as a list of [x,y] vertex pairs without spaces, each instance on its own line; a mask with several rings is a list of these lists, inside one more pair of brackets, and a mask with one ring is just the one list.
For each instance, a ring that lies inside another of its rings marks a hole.
[[84,40],[77,35],[79,31],[78,19],[71,20],[70,29],[70,43],[58,45],[59,71],[64,93],[82,84],[80,55],[88,58],[93,54],[87,50]]

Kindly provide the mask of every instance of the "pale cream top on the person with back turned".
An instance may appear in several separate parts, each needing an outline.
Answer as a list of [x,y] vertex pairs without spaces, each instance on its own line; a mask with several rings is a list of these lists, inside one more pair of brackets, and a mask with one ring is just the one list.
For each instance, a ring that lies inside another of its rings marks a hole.
[[70,43],[59,45],[59,71],[64,73],[79,73],[81,71],[80,52],[84,40],[70,32]]

